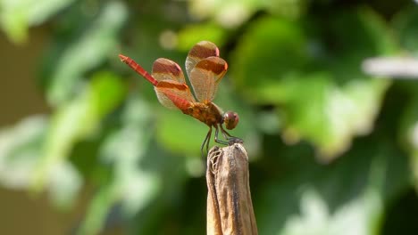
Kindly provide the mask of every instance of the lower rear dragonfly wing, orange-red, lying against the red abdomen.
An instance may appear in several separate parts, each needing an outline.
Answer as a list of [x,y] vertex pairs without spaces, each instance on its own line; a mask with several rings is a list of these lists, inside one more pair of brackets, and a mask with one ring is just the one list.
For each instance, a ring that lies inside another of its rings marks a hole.
[[170,109],[188,109],[195,101],[188,85],[173,80],[163,80],[155,85],[155,93],[163,106]]

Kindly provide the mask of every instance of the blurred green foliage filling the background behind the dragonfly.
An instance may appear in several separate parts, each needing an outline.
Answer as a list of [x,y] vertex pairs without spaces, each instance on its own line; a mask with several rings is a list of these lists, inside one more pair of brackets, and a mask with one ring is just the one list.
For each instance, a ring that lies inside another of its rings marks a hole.
[[361,70],[418,57],[414,1],[2,0],[0,24],[16,44],[48,25],[34,82],[53,109],[2,129],[0,182],[66,210],[89,185],[79,234],[205,233],[207,127],[117,56],[182,66],[200,40],[230,65],[215,102],[239,113],[260,234],[418,230],[418,84]]

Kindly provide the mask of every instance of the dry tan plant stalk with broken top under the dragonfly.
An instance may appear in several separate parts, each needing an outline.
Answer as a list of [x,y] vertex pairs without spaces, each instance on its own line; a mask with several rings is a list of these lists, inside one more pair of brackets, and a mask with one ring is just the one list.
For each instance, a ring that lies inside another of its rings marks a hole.
[[249,189],[247,151],[240,143],[208,154],[207,235],[255,235],[257,225]]

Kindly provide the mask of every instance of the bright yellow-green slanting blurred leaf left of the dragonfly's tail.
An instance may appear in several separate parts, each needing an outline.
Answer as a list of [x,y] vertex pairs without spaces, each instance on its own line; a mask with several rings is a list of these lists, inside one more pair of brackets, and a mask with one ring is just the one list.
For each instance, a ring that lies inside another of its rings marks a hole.
[[100,129],[100,121],[121,103],[126,88],[119,77],[97,73],[79,96],[56,110],[46,135],[43,157],[33,177],[40,190],[71,152],[71,148]]

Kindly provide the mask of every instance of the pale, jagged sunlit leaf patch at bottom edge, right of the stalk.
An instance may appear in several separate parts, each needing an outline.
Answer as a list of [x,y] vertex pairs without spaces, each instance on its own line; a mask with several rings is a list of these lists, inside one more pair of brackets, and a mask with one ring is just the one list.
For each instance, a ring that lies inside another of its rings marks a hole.
[[304,190],[300,204],[301,215],[289,216],[280,234],[373,234],[382,212],[382,199],[373,189],[333,213],[314,190]]

